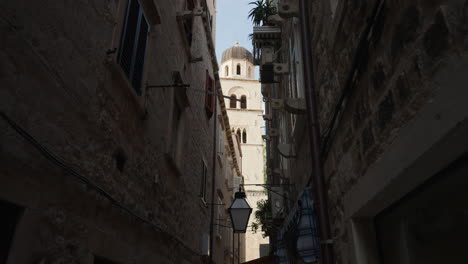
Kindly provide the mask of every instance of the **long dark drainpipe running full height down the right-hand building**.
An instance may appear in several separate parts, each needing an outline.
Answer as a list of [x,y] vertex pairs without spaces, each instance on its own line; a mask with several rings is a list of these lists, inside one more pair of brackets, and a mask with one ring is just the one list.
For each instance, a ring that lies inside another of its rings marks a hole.
[[320,247],[321,247],[321,263],[332,264],[334,263],[333,244],[330,229],[330,222],[328,216],[328,205],[325,189],[325,181],[323,176],[322,162],[320,158],[320,129],[318,122],[317,103],[316,103],[316,89],[314,86],[313,64],[312,64],[312,41],[309,24],[309,10],[310,1],[300,0],[300,21],[301,21],[301,35],[302,35],[302,55],[304,58],[304,86],[305,97],[307,103],[307,122],[308,134],[310,141],[311,159],[312,159],[312,173],[311,180],[307,183],[308,186],[312,185],[314,190],[314,203],[317,212],[317,224],[319,227]]

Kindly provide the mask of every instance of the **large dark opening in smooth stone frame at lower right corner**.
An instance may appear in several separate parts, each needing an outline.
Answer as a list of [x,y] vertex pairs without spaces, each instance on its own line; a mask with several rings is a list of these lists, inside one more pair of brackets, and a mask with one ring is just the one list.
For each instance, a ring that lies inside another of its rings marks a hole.
[[466,263],[467,174],[465,154],[377,215],[381,263]]

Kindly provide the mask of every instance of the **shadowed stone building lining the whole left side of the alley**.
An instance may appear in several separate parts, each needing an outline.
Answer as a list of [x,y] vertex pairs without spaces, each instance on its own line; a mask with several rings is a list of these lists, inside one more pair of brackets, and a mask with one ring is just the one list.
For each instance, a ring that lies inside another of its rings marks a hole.
[[241,176],[215,3],[0,2],[0,263],[207,261]]

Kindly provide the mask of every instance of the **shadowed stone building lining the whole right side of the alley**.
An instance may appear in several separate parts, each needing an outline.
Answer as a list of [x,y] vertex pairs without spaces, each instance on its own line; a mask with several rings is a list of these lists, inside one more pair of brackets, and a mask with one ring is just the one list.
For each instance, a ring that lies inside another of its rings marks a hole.
[[308,186],[321,263],[466,261],[468,2],[275,2],[254,60],[269,181],[291,184],[278,262],[306,262],[282,231]]

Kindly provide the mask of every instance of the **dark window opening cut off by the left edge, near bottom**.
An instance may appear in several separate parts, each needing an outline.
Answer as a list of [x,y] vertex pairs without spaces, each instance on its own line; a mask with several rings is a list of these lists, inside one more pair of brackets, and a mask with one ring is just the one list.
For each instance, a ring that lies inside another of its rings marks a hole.
[[22,208],[0,200],[0,263],[6,263]]

